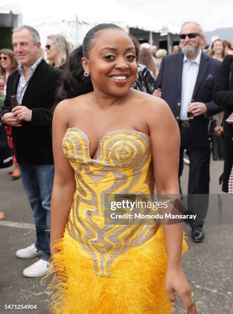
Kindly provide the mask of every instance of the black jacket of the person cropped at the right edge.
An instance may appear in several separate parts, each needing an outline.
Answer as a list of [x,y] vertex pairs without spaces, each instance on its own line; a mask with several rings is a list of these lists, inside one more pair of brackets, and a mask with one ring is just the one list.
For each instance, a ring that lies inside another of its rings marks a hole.
[[233,111],[233,55],[225,56],[215,82],[214,101],[225,109],[224,129],[224,172],[222,190],[228,192],[228,180],[233,165],[233,128],[225,120]]

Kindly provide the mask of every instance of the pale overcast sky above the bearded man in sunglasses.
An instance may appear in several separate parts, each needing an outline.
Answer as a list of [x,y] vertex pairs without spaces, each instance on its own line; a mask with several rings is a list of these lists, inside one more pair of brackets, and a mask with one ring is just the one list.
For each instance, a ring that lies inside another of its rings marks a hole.
[[[101,1],[101,0],[99,0]],[[196,21],[204,31],[233,27],[233,0],[115,0],[144,15],[181,26]]]

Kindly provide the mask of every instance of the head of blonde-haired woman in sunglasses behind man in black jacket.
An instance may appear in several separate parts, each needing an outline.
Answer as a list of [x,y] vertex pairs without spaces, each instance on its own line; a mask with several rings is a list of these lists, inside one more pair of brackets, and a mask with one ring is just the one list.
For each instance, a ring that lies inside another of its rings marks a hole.
[[70,56],[70,45],[63,35],[49,35],[45,46],[49,64],[62,70]]

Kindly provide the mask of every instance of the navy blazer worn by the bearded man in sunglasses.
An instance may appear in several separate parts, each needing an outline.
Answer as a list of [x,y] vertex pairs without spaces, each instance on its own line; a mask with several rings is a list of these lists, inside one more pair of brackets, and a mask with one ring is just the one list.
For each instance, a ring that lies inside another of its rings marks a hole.
[[[159,75],[156,81],[156,88],[162,89],[164,99],[173,111],[177,122],[180,119],[182,69],[182,52],[174,53],[163,57]],[[221,63],[214,58],[201,54],[200,66],[194,88],[193,99],[195,102],[205,103],[207,115],[204,114],[190,120],[190,134],[196,148],[208,148],[208,119],[207,117],[221,112],[221,106],[212,100],[215,78]]]

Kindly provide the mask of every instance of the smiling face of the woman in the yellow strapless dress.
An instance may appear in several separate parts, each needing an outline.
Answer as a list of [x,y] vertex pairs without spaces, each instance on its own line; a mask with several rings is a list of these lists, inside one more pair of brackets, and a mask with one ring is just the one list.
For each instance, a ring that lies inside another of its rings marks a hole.
[[135,47],[123,31],[105,30],[94,41],[89,60],[83,65],[90,71],[95,92],[122,96],[136,79]]

